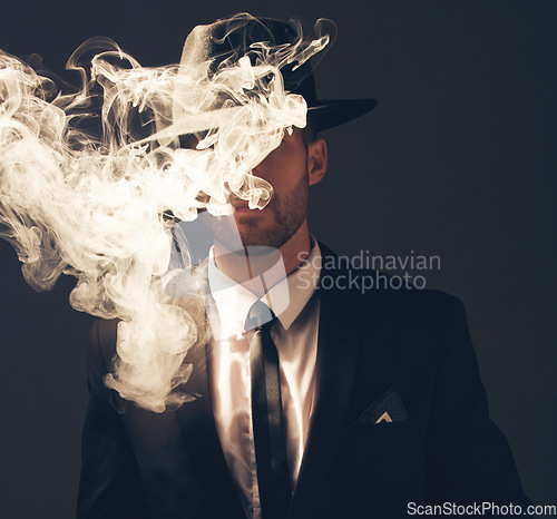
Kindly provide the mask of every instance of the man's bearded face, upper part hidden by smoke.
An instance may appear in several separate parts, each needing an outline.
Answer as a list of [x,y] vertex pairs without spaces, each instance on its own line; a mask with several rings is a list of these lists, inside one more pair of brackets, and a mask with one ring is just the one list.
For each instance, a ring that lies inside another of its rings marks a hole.
[[[311,145],[310,145],[311,146]],[[207,219],[215,239],[229,251],[242,245],[280,248],[305,223],[310,175],[307,148],[302,131],[284,133],[282,144],[253,169],[253,174],[273,186],[273,197],[263,209],[250,209],[246,200],[233,199],[233,216]]]

